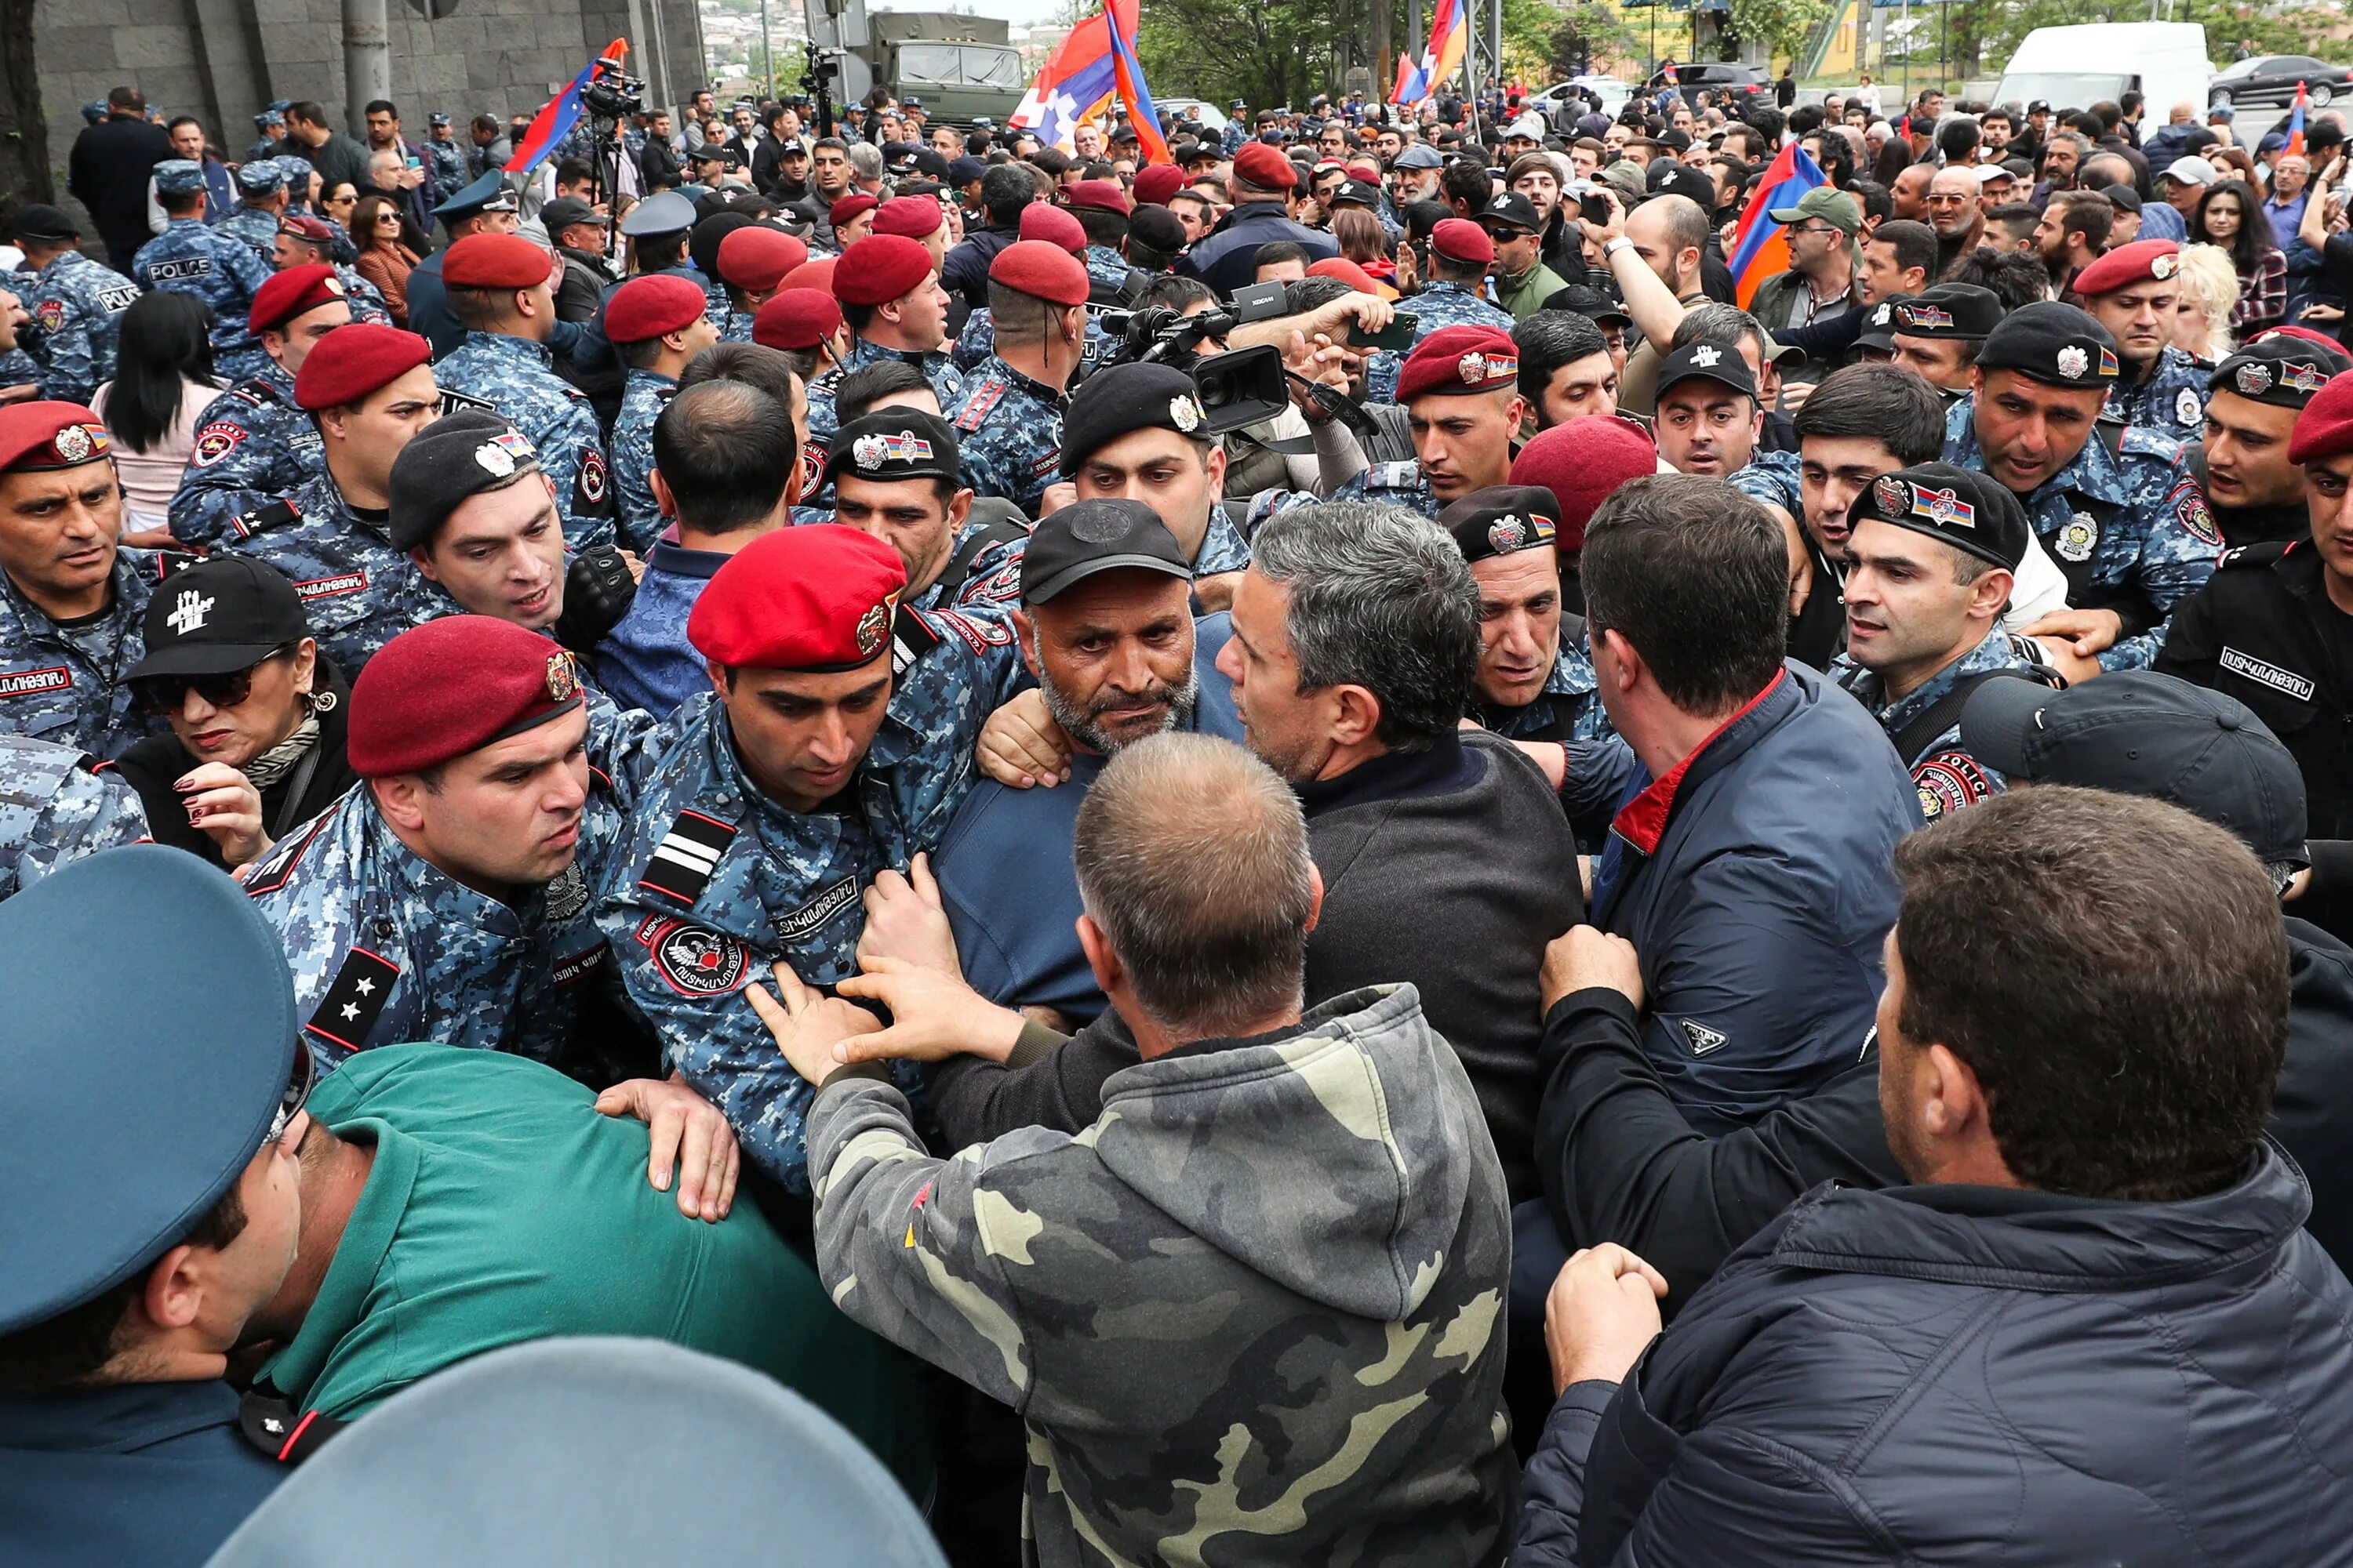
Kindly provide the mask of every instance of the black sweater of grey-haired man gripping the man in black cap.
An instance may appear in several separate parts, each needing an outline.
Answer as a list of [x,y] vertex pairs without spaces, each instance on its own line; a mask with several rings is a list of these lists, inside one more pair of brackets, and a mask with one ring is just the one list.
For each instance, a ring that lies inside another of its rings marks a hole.
[[[1412,983],[1478,1091],[1513,1201],[1537,1197],[1537,969],[1584,917],[1577,844],[1544,773],[1508,741],[1471,731],[1377,757],[1299,788],[1325,900],[1308,936],[1306,1001]],[[1068,1041],[1031,1030],[1005,1063],[932,1070],[953,1147],[1021,1126],[1075,1133],[1101,1086],[1136,1063],[1115,1009]]]

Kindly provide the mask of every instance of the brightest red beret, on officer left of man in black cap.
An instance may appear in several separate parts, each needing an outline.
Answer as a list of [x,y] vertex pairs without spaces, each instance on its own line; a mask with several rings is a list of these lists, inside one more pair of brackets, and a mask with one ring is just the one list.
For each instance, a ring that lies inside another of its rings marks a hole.
[[901,588],[899,552],[873,534],[838,522],[776,529],[711,576],[687,642],[729,670],[856,670],[889,654]]

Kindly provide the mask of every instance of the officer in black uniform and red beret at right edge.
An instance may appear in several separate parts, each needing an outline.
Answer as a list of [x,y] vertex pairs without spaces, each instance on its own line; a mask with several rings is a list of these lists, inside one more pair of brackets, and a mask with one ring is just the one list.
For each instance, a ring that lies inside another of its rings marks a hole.
[[2306,536],[2224,555],[2155,668],[2252,708],[2304,769],[2311,837],[2353,839],[2353,374],[2297,414],[2287,461]]

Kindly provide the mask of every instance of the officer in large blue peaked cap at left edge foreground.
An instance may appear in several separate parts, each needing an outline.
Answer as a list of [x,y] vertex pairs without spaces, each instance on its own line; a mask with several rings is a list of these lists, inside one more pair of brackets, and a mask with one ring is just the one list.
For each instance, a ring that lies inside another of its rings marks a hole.
[[226,1382],[301,1229],[285,959],[238,884],[134,844],[0,905],[0,1013],[9,1561],[198,1563],[285,1474]]

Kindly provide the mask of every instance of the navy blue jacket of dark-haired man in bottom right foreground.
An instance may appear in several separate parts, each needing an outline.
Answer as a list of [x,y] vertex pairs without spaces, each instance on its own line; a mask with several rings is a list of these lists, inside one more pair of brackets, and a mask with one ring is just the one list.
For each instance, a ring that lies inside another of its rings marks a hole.
[[2271,1145],[2181,1204],[1821,1185],[1560,1396],[1511,1568],[2344,1563],[2353,1286],[2306,1213]]

